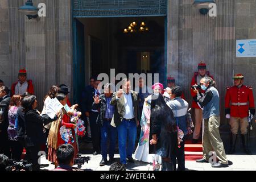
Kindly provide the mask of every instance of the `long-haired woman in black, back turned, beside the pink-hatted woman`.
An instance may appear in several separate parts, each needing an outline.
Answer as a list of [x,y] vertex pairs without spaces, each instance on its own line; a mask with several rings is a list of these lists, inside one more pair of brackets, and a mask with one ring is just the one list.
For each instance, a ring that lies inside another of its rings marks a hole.
[[155,154],[162,156],[162,171],[173,171],[171,156],[177,148],[177,127],[174,113],[161,94],[151,102],[151,145],[156,145]]

